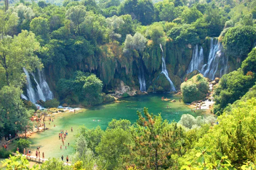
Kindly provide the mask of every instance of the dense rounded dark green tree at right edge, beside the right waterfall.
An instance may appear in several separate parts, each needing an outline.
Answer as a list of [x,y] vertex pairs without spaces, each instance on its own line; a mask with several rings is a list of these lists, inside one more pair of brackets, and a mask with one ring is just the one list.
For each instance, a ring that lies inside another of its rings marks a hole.
[[245,57],[256,40],[256,31],[252,26],[232,27],[225,34],[223,48],[229,56]]

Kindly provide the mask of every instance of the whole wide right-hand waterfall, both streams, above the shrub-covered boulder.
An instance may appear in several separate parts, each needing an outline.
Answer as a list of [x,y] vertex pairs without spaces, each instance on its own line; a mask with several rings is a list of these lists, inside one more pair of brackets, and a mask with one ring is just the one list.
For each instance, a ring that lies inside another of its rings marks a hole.
[[[192,60],[188,66],[187,73],[194,70],[198,70],[210,79],[214,79],[216,76],[222,76],[228,70],[228,57],[223,54],[223,46],[218,39],[210,39],[210,51],[208,61],[204,64],[203,48],[200,46],[200,52],[198,52],[198,45],[194,47]],[[204,65],[203,65],[204,64]],[[219,70],[219,72],[218,72]]]

